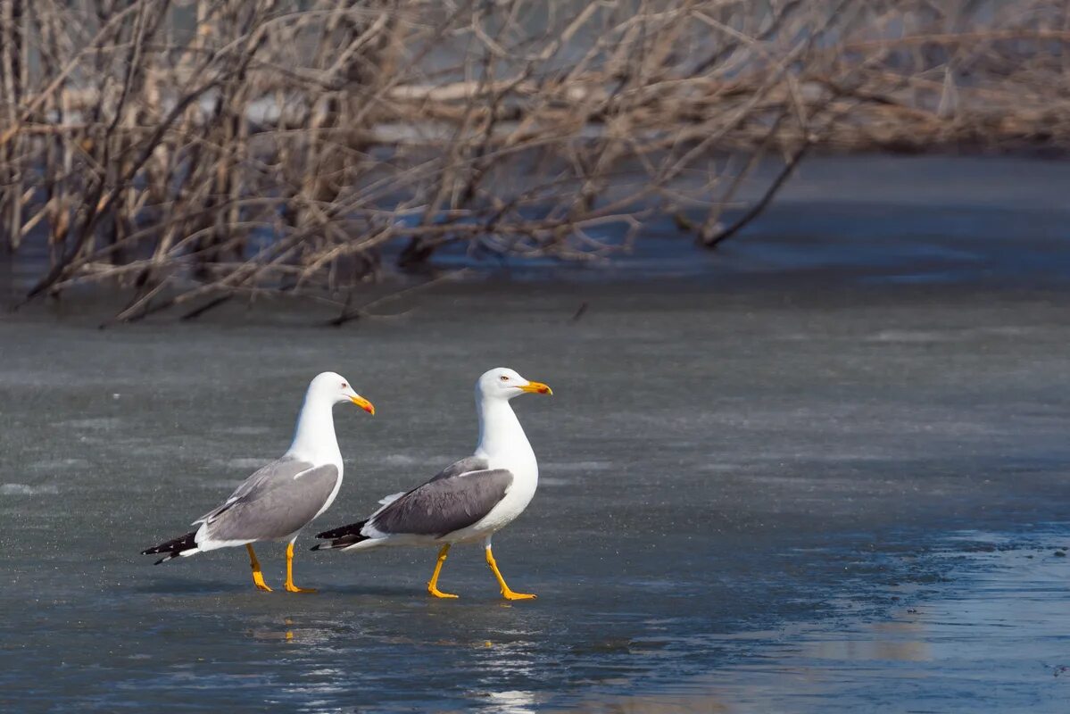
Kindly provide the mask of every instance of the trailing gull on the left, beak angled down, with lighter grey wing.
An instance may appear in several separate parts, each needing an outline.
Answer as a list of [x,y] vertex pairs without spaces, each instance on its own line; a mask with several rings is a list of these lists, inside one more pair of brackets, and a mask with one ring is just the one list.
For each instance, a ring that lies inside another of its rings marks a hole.
[[141,555],[165,553],[156,561],[159,565],[180,556],[244,545],[249,552],[253,582],[257,589],[271,592],[253,544],[287,541],[286,590],[316,592],[293,584],[293,542],[301,529],[331,506],[341,488],[341,452],[332,411],[336,404],[346,401],[376,413],[374,406],[340,375],[317,375],[305,393],[289,451],[246,478],[221,505],[195,520],[197,530],[142,550]]

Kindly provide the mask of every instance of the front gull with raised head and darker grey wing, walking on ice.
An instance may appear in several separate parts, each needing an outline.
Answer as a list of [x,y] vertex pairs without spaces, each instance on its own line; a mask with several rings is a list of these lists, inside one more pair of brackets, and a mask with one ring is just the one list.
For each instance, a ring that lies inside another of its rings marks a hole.
[[494,562],[490,542],[494,533],[523,513],[538,486],[538,464],[528,437],[509,406],[521,394],[553,394],[541,382],[531,382],[513,369],[499,367],[475,383],[479,443],[475,454],[443,469],[408,492],[380,501],[382,507],[365,520],[324,531],[312,550],[367,550],[379,546],[440,546],[427,592],[457,597],[439,590],[439,575],[449,547],[483,540],[487,565],[506,599],[535,595],[509,589]]

